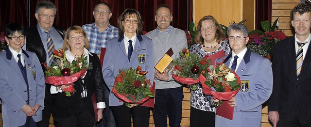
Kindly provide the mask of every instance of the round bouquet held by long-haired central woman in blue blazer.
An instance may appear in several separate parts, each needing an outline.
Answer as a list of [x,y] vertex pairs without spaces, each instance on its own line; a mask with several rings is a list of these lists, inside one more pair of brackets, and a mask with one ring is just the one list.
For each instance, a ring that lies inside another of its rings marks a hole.
[[115,79],[112,92],[126,103],[142,104],[155,95],[151,92],[150,79],[146,78],[147,71],[141,71],[141,66],[136,69],[122,69]]

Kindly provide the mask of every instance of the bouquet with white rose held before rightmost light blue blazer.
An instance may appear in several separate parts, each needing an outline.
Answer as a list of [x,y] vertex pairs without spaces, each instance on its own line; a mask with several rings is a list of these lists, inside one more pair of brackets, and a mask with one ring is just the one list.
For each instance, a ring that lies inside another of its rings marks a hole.
[[199,80],[205,94],[220,100],[214,104],[216,107],[222,104],[221,100],[230,100],[235,96],[242,85],[240,77],[223,62],[208,66],[207,73],[202,72]]

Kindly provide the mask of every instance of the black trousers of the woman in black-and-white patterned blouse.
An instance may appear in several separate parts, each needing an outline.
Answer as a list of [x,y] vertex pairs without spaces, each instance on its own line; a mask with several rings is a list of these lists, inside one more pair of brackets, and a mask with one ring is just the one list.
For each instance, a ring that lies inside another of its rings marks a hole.
[[215,127],[215,112],[191,107],[190,127]]

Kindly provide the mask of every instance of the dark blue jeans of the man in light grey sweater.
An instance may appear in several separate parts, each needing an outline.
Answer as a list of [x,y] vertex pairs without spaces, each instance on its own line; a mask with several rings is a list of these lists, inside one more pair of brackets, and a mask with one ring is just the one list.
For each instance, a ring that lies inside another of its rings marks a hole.
[[167,116],[170,127],[180,127],[183,87],[156,89],[155,94],[155,107],[152,111],[155,127],[167,127]]

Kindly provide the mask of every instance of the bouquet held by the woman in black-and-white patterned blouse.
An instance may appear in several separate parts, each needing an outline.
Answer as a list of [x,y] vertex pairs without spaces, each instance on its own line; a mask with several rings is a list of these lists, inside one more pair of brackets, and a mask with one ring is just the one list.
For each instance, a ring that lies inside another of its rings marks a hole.
[[200,58],[186,48],[180,51],[179,55],[180,57],[174,60],[172,76],[180,83],[192,85],[192,90],[196,90],[193,84],[199,82],[201,72],[209,66],[211,60],[207,59],[208,56]]

